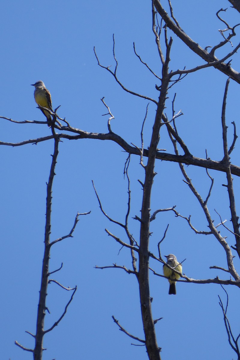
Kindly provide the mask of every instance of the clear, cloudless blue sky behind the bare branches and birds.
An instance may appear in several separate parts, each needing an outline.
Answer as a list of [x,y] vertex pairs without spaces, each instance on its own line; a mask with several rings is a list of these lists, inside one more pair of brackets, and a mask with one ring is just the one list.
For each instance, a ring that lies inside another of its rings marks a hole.
[[[81,4],[82,3],[82,4]],[[163,1],[163,4],[166,1]],[[220,8],[228,7],[225,19],[233,26],[239,23],[239,13],[228,1],[172,0],[175,16],[181,27],[203,48],[221,41],[218,29],[223,24],[216,18]],[[133,41],[142,59],[160,75],[160,61],[151,31],[151,1],[114,2],[109,0],[79,1],[24,1],[9,0],[1,7],[1,116],[17,121],[44,120],[36,109],[33,84],[45,82],[50,90],[53,107],[61,105],[59,116],[74,127],[90,132],[107,132],[106,109],[100,99],[105,96],[115,119],[112,130],[128,143],[140,146],[140,131],[146,111],[146,100],[124,93],[114,79],[97,65],[93,47],[101,63],[114,66],[112,36],[115,34],[119,78],[133,91],[155,99],[157,79],[140,64],[133,53]],[[237,33],[240,29],[237,28]],[[170,36],[170,33],[169,33]],[[239,39],[239,36],[237,37]],[[234,43],[237,43],[237,39]],[[223,52],[231,51],[227,45]],[[220,53],[219,53],[220,54]],[[221,53],[222,54],[222,53]],[[220,56],[220,55],[219,55]],[[194,67],[203,62],[192,55],[176,36],[170,68]],[[239,55],[232,60],[239,71]],[[177,120],[178,131],[190,151],[198,157],[214,160],[223,157],[221,135],[221,107],[227,77],[216,69],[205,69],[188,75],[169,91],[166,113],[171,117],[171,102],[177,93],[175,109],[184,113]],[[239,125],[239,85],[230,82],[227,99],[229,142],[232,139],[231,121]],[[146,120],[144,145],[149,145],[155,107],[150,104]],[[17,125],[1,120],[1,141],[19,142],[50,134],[44,125]],[[173,152],[166,130],[161,133],[159,148]],[[53,141],[22,147],[1,147],[1,359],[32,359],[14,345],[33,347],[32,333],[36,327],[36,312],[40,289],[43,257],[46,181],[49,176]],[[127,182],[123,179],[126,153],[112,142],[98,140],[64,140],[56,167],[53,187],[51,240],[63,236],[72,228],[78,212],[91,210],[91,215],[80,218],[74,238],[66,239],[52,248],[50,271],[63,262],[63,269],[54,278],[65,286],[78,286],[67,315],[44,338],[44,359],[147,359],[144,347],[131,346],[131,339],[120,332],[111,318],[133,335],[142,338],[139,291],[136,279],[122,270],[96,270],[95,265],[113,263],[131,268],[130,253],[107,236],[104,229],[121,237],[122,229],[110,223],[100,212],[92,188],[94,180],[104,210],[118,221],[124,221],[127,209]],[[239,165],[239,142],[231,160]],[[207,230],[203,213],[182,181],[179,166],[157,161],[154,178],[152,211],[177,205],[184,216],[192,215],[198,230]],[[203,198],[210,181],[204,169],[187,168],[193,183]],[[131,217],[140,216],[141,186],[144,171],[139,158],[132,156]],[[231,228],[227,203],[225,174],[210,171],[215,179],[209,210],[215,223],[220,222],[216,209]],[[239,211],[239,178],[234,178],[237,210]],[[210,270],[209,266],[226,267],[225,253],[213,237],[195,235],[183,219],[173,213],[158,214],[152,222],[150,250],[157,255],[157,243],[167,224],[167,238],[162,254],[174,253],[186,261],[183,271],[192,278],[205,279],[225,273]],[[130,221],[130,231],[139,237],[139,223]],[[227,235],[230,245],[235,241]],[[162,266],[151,262],[156,271]],[[240,269],[238,262],[235,266]],[[223,315],[218,305],[218,294],[224,303],[226,296],[217,285],[177,284],[177,295],[168,295],[166,279],[150,274],[153,316],[163,317],[156,325],[158,345],[163,359],[235,359],[227,342]],[[227,288],[228,315],[234,334],[239,328],[239,292]],[[45,327],[50,327],[62,314],[71,294],[55,284],[48,288]],[[173,326],[174,324],[174,326]],[[170,336],[169,336],[170,334]],[[136,343],[136,342],[134,342]]]

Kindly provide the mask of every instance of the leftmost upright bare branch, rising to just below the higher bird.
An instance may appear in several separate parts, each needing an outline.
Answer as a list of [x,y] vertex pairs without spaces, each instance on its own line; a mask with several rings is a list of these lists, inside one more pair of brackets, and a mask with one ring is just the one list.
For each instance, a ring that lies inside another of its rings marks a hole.
[[41,288],[39,295],[39,305],[37,310],[37,328],[35,336],[35,348],[33,350],[33,359],[42,359],[43,350],[43,337],[44,337],[44,318],[46,311],[46,297],[47,297],[47,284],[49,276],[49,259],[50,259],[50,233],[51,233],[51,199],[52,199],[52,186],[55,175],[56,160],[58,157],[58,144],[59,136],[54,134],[54,154],[52,156],[51,169],[49,180],[47,183],[47,198],[46,198],[46,224],[45,224],[45,238],[44,238],[44,257],[42,261],[42,277]]

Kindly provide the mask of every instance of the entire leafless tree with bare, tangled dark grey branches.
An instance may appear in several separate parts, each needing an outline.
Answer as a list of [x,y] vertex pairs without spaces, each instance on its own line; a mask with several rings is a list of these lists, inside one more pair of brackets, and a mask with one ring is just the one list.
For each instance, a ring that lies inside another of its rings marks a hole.
[[[230,0],[229,0],[230,1]],[[240,12],[239,5],[237,1],[230,1],[232,6]],[[108,132],[103,133],[94,133],[94,132],[86,132],[81,129],[76,129],[71,126],[71,124],[66,120],[60,118],[56,114],[56,110],[54,112],[50,112],[53,116],[53,125],[51,126],[52,135],[46,136],[44,138],[33,139],[33,140],[26,140],[21,143],[5,143],[1,142],[1,145],[9,145],[9,146],[22,146],[29,143],[39,143],[41,141],[48,141],[50,139],[54,139],[55,148],[53,154],[53,162],[51,165],[50,170],[50,177],[49,182],[47,184],[47,207],[46,207],[46,226],[45,226],[45,253],[44,253],[44,260],[43,260],[43,268],[42,268],[42,280],[41,280],[41,290],[40,290],[40,300],[39,300],[39,309],[38,309],[38,319],[37,319],[37,330],[36,334],[31,334],[35,338],[35,348],[28,349],[23,347],[22,345],[16,342],[16,345],[23,348],[23,350],[27,350],[33,352],[33,356],[35,360],[40,360],[42,358],[42,340],[44,335],[53,330],[53,328],[58,325],[59,321],[65,315],[67,311],[67,307],[69,303],[72,301],[73,295],[76,291],[76,287],[74,288],[66,288],[67,290],[72,290],[72,297],[69,300],[68,304],[65,307],[63,314],[60,318],[47,330],[44,330],[44,316],[45,311],[47,310],[46,307],[46,289],[47,284],[51,281],[49,279],[48,270],[48,261],[50,255],[50,248],[53,244],[63,240],[64,238],[68,238],[72,236],[72,233],[75,229],[75,226],[78,221],[79,215],[86,215],[85,214],[77,214],[74,226],[70,233],[62,238],[56,239],[50,242],[50,213],[51,213],[51,189],[53,184],[53,177],[54,177],[54,168],[56,164],[56,157],[58,154],[58,143],[60,139],[69,139],[69,140],[81,140],[81,139],[95,139],[95,140],[111,140],[117,143],[127,154],[127,160],[125,163],[124,168],[124,175],[127,179],[127,192],[128,192],[128,206],[127,212],[125,216],[125,222],[122,223],[118,220],[114,220],[105,210],[98,195],[97,189],[94,186],[94,190],[96,196],[98,198],[98,202],[100,205],[101,212],[107,217],[107,219],[114,224],[120,226],[124,229],[126,234],[126,240],[119,238],[117,235],[111,233],[108,229],[105,229],[107,234],[112,237],[116,242],[118,242],[123,248],[128,249],[131,254],[131,263],[132,269],[129,269],[127,266],[122,266],[118,264],[113,264],[111,266],[96,266],[97,269],[105,269],[105,268],[112,268],[112,269],[121,269],[124,270],[126,273],[135,275],[136,281],[139,285],[139,294],[140,294],[140,307],[141,307],[141,316],[142,316],[142,325],[144,329],[145,338],[141,339],[140,337],[130,334],[127,329],[125,329],[122,325],[119,324],[118,320],[113,316],[114,323],[117,324],[119,329],[127,334],[130,338],[138,341],[140,344],[146,347],[146,351],[150,360],[160,360],[161,355],[160,351],[164,344],[162,344],[161,339],[157,339],[156,332],[155,332],[155,324],[161,319],[154,319],[151,310],[151,291],[149,285],[149,270],[152,274],[158,277],[165,277],[164,275],[158,273],[158,271],[150,267],[149,262],[152,261],[153,264],[165,264],[169,267],[169,265],[163,260],[161,256],[161,244],[166,237],[168,226],[165,230],[165,233],[162,239],[158,242],[158,246],[155,248],[155,253],[150,252],[149,250],[149,238],[151,235],[151,222],[156,219],[157,214],[161,212],[172,212],[176,217],[180,217],[182,220],[186,221],[189,225],[190,229],[193,230],[195,234],[199,235],[212,235],[216,240],[216,244],[219,244],[223,251],[225,252],[225,267],[214,265],[211,266],[212,269],[217,269],[220,271],[220,274],[227,273],[229,275],[228,279],[222,279],[221,275],[216,276],[215,278],[208,278],[208,279],[194,279],[186,276],[185,274],[180,274],[177,270],[174,270],[178,273],[181,278],[180,280],[176,280],[177,282],[181,283],[195,283],[195,284],[219,284],[221,285],[234,285],[236,287],[240,287],[240,276],[236,270],[236,262],[240,257],[240,231],[239,231],[239,216],[237,215],[236,211],[236,200],[234,194],[234,186],[233,186],[233,178],[232,176],[240,176],[240,167],[232,164],[230,161],[230,155],[234,151],[236,140],[237,140],[237,130],[235,122],[232,121],[233,125],[233,140],[231,144],[228,144],[228,137],[227,137],[227,125],[226,125],[226,107],[227,107],[227,94],[228,94],[228,86],[230,81],[235,81],[240,83],[240,74],[235,69],[231,67],[231,59],[236,54],[237,50],[240,48],[240,42],[233,46],[233,39],[236,36],[236,29],[237,26],[240,24],[234,24],[233,26],[228,24],[224,20],[224,13],[226,9],[217,9],[216,16],[223,24],[223,29],[219,30],[222,36],[222,41],[214,46],[209,46],[206,44],[206,47],[203,49],[199,44],[197,44],[193,39],[191,39],[181,28],[179,19],[176,19],[173,11],[173,7],[171,1],[168,0],[168,9],[164,9],[161,2],[159,0],[152,1],[152,30],[155,36],[157,53],[159,56],[159,63],[161,64],[161,73],[155,72],[153,69],[150,68],[147,62],[142,60],[142,57],[137,54],[135,44],[133,45],[133,50],[140,60],[140,62],[148,68],[151,75],[154,75],[157,78],[157,81],[160,85],[156,85],[156,89],[158,91],[158,99],[151,98],[147,95],[136,93],[128,89],[118,77],[118,60],[115,53],[115,40],[113,36],[113,58],[115,61],[115,67],[112,70],[111,67],[105,66],[101,63],[97,51],[95,51],[95,56],[98,62],[98,65],[105,69],[107,72],[112,75],[113,79],[122,87],[124,91],[127,93],[137,96],[139,98],[148,100],[155,107],[155,119],[153,130],[151,133],[151,139],[149,145],[146,147],[144,144],[144,125],[145,120],[148,116],[148,107],[146,109],[146,114],[144,120],[142,122],[141,127],[141,144],[139,146],[134,144],[128,144],[126,140],[124,140],[121,136],[114,133],[111,128],[111,120],[114,118],[110,110],[110,106],[105,102],[104,98],[101,99],[103,105],[107,108],[107,115],[109,116],[108,119]],[[171,61],[171,51],[173,47],[173,36],[177,35],[178,38],[184,42],[188,48],[193,51],[195,55],[198,56],[199,65],[193,68],[183,68],[183,69],[175,69],[169,70],[169,64]],[[225,45],[231,44],[232,50],[225,51]],[[216,53],[221,49],[221,51],[225,51],[224,56],[218,58]],[[202,61],[204,60],[204,64]],[[206,68],[214,68],[215,71],[219,71],[226,75],[226,86],[223,89],[223,100],[222,100],[222,114],[221,114],[221,126],[222,126],[222,139],[223,139],[223,158],[219,160],[213,160],[208,157],[207,150],[206,150],[206,158],[199,158],[194,156],[190,152],[190,149],[187,147],[185,143],[184,136],[180,134],[177,129],[177,118],[183,115],[181,111],[175,111],[175,98],[176,94],[173,95],[172,98],[172,108],[166,110],[166,100],[168,99],[168,94],[170,89],[173,86],[178,84],[186,75],[191,76],[191,73],[204,71]],[[45,109],[46,110],[46,109]],[[170,115],[169,115],[170,114]],[[13,122],[12,119],[1,117],[8,121]],[[14,121],[17,122],[17,121]],[[36,121],[24,121],[22,123],[37,123]],[[159,149],[159,140],[160,135],[162,134],[163,129],[167,130],[167,134],[169,140],[173,145],[173,153],[167,153],[164,149]],[[60,133],[56,134],[55,130],[58,130]],[[128,169],[131,166],[130,158],[131,156],[139,156],[140,157],[140,166],[144,169],[144,181],[139,180],[140,185],[142,186],[142,204],[141,204],[141,217],[135,215],[133,218],[135,221],[138,221],[140,224],[140,233],[137,236],[133,236],[129,229],[129,217],[131,212],[131,182],[130,176],[128,174]],[[175,162],[179,164],[181,174],[183,176],[185,184],[188,186],[190,192],[195,197],[196,201],[198,202],[201,211],[207,221],[207,230],[198,230],[196,226],[191,221],[191,216],[186,216],[185,214],[181,214],[177,211],[176,206],[172,206],[169,208],[159,208],[155,211],[151,211],[151,194],[153,189],[153,182],[154,177],[157,175],[155,171],[156,161],[163,160],[168,162]],[[206,176],[210,181],[210,186],[207,191],[207,196],[203,196],[197,190],[197,187],[194,184],[194,181],[191,180],[190,175],[186,169],[185,165],[193,165],[195,167],[201,167],[206,169]],[[223,184],[227,194],[228,194],[228,206],[230,207],[231,211],[231,225],[226,225],[226,220],[222,219],[221,214],[217,211],[214,212],[214,215],[219,216],[219,221],[217,224],[214,224],[213,214],[211,210],[208,208],[208,202],[211,196],[211,192],[214,186],[214,179],[209,174],[209,170],[214,170],[216,172],[223,172],[226,174],[226,184]],[[221,235],[220,229],[226,229],[230,234],[231,238],[235,239],[236,244],[234,246],[231,245],[231,241],[227,241],[226,237]],[[234,251],[234,253],[232,252]],[[184,260],[181,260],[183,262]],[[137,266],[138,264],[138,266]],[[60,269],[58,269],[60,270]],[[56,271],[58,271],[56,270]],[[222,273],[223,272],[223,273]],[[56,281],[55,281],[56,283]],[[227,318],[227,307],[228,307],[228,296],[227,296],[227,305],[226,307],[223,305],[223,301],[221,297],[219,297],[219,304],[221,306],[221,310],[223,313],[224,324],[227,332],[228,342],[231,348],[235,351],[237,355],[237,359],[240,360],[240,351],[238,346],[238,340],[240,334],[235,335],[230,324],[230,320]]]

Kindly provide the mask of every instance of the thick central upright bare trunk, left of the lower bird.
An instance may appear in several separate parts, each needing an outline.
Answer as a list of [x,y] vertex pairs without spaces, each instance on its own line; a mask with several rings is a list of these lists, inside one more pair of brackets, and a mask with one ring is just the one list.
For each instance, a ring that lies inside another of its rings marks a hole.
[[167,97],[169,85],[168,64],[170,61],[170,49],[172,39],[166,42],[166,61],[162,68],[162,85],[157,105],[153,133],[149,147],[148,163],[145,167],[145,181],[141,208],[141,228],[140,228],[140,246],[139,246],[139,292],[141,302],[142,323],[144,327],[146,350],[150,360],[160,360],[159,347],[157,344],[154,321],[151,313],[150,289],[149,289],[149,235],[150,235],[150,199],[155,176],[154,166],[157,154],[157,147],[160,139],[159,131],[162,125],[161,119]]

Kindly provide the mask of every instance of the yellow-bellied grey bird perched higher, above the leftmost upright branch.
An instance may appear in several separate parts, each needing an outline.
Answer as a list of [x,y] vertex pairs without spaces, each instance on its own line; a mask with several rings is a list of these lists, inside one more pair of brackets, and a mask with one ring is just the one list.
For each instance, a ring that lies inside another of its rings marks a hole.
[[[53,112],[51,94],[50,94],[49,90],[46,89],[44,82],[39,80],[39,81],[36,81],[35,84],[31,84],[31,85],[35,86],[34,99],[35,99],[37,105],[47,108]],[[52,122],[51,115],[46,110],[42,110],[42,109],[40,109],[40,110],[46,116],[47,125],[50,127],[51,122]]]

